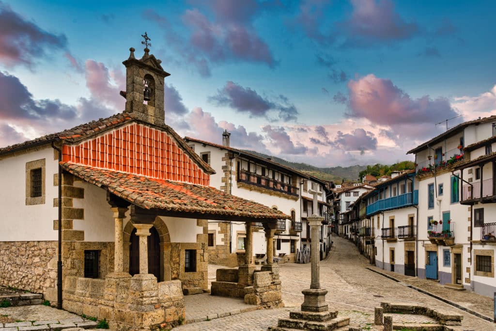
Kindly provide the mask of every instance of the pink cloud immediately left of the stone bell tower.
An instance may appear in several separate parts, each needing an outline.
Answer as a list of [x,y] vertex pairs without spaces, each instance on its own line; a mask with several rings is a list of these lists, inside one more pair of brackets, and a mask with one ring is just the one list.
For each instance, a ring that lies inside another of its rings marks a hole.
[[[120,90],[125,90],[125,80],[122,74],[111,73],[101,62],[86,60],[85,77],[86,87],[90,90],[93,98],[115,107],[117,111],[124,110],[125,99],[119,95]],[[112,77],[119,81],[115,81]]]

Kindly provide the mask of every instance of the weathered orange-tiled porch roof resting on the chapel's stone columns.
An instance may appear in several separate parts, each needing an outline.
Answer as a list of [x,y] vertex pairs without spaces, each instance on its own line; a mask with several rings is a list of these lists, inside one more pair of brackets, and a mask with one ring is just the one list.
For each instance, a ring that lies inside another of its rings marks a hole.
[[160,180],[129,173],[61,162],[62,169],[145,209],[249,217],[291,219],[263,204],[212,187]]

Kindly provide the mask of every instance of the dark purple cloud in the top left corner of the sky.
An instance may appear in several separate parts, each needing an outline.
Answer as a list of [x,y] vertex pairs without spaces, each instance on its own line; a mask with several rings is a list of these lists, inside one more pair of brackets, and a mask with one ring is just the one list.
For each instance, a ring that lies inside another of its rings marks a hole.
[[65,35],[43,30],[0,1],[0,62],[3,65],[31,68],[37,59],[47,57],[47,50],[63,50],[66,46]]

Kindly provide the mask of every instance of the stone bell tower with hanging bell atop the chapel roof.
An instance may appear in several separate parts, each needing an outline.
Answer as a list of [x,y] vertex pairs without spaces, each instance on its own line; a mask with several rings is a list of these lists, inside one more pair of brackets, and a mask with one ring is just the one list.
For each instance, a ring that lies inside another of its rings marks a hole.
[[134,48],[131,47],[129,59],[123,62],[126,67],[124,112],[150,124],[164,125],[164,78],[170,73],[164,71],[160,65],[162,61],[149,54],[148,46],[146,43],[141,59],[134,57]]

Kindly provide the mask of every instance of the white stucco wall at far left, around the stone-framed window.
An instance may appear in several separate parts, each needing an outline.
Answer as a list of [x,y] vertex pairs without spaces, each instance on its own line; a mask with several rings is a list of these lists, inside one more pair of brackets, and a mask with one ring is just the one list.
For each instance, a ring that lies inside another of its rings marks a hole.
[[[26,162],[45,159],[45,203],[26,205]],[[58,160],[54,160],[52,147],[40,147],[18,156],[0,159],[0,241],[57,240],[53,221],[58,218],[54,198],[54,174],[58,173]]]

